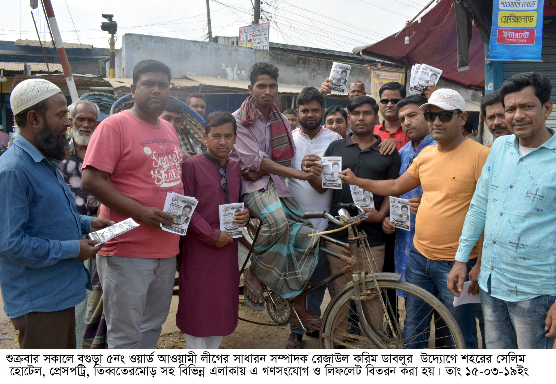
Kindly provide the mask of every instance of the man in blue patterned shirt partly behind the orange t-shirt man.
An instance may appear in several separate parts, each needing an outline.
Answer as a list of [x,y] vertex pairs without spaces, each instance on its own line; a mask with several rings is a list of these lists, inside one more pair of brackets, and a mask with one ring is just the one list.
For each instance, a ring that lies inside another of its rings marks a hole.
[[[406,143],[400,149],[401,167],[400,176],[409,168],[413,163],[415,156],[421,153],[424,147],[435,145],[436,140],[429,134],[429,124],[425,121],[423,111],[419,107],[426,103],[426,99],[419,95],[409,96],[396,104],[396,112],[400,117],[401,128],[404,134],[409,137],[411,141]],[[423,195],[423,188],[419,185],[417,188],[410,190],[408,193],[400,195],[401,199],[410,199],[413,209],[419,205],[421,196]],[[401,273],[401,280],[405,281],[405,265],[408,263],[409,249],[413,247],[413,235],[415,234],[415,211],[410,215],[410,230],[396,229],[394,224],[390,222],[390,218],[386,217],[383,220],[384,233],[393,233],[396,231],[396,243],[394,245],[394,265],[396,273]],[[397,291],[398,296],[405,296],[405,292]]]

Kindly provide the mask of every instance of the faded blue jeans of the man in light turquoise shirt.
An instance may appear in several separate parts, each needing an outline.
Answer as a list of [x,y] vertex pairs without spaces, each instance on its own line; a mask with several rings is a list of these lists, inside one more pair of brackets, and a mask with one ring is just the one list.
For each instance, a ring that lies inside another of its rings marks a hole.
[[490,296],[489,292],[479,289],[485,318],[485,338],[488,349],[550,349],[554,339],[544,337],[544,319],[554,296],[509,302]]

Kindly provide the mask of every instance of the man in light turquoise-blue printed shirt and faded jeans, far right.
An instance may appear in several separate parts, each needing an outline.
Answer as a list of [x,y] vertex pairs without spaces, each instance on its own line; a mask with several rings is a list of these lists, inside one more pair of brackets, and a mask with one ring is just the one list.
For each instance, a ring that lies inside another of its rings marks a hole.
[[465,262],[484,230],[477,264],[489,349],[549,349],[556,337],[556,136],[545,126],[551,90],[538,72],[500,86],[514,135],[500,136],[490,150],[448,275],[459,296]]

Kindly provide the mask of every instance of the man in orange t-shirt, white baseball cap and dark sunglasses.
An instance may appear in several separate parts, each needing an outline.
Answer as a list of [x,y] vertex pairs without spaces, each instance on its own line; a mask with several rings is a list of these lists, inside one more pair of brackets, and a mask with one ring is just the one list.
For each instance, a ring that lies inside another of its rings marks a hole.
[[[424,148],[396,180],[359,179],[349,169],[342,171],[340,177],[346,183],[381,196],[399,196],[421,185],[423,198],[415,218],[414,247],[409,250],[405,278],[435,296],[440,293],[444,305],[461,328],[465,347],[476,349],[475,304],[453,306],[448,273],[455,262],[465,215],[489,149],[461,136],[467,112],[465,100],[458,92],[444,88],[436,90],[419,109],[425,111],[430,135],[438,145]],[[473,267],[481,242],[475,244],[467,263],[467,273],[473,280],[469,293],[474,294],[479,290],[476,285],[479,268]],[[404,326],[405,347],[434,348],[434,345],[428,346],[427,340],[432,309],[421,308],[422,302],[409,293],[406,303],[409,304]]]

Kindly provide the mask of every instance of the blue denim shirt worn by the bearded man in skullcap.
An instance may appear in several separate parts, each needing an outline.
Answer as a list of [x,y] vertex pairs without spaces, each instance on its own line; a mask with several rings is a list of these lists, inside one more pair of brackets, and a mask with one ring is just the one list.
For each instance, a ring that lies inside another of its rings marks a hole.
[[93,217],[77,212],[58,164],[21,135],[0,156],[0,288],[9,318],[73,307],[91,284],[76,257]]

